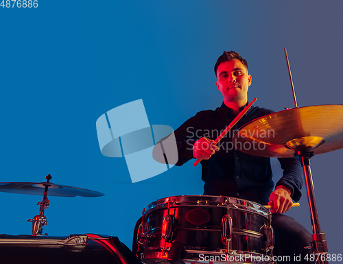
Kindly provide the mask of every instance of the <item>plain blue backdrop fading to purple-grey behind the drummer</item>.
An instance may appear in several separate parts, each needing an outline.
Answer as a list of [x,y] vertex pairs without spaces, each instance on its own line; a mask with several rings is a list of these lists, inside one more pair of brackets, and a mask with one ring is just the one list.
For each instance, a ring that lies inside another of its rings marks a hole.
[[[93,232],[131,248],[147,204],[202,193],[189,162],[132,184],[124,158],[100,153],[95,121],[143,99],[151,125],[178,126],[222,97],[213,66],[224,50],[248,60],[249,98],[276,111],[342,104],[342,1],[54,1],[0,7],[0,181],[51,182],[104,197],[49,197],[49,235]],[[342,149],[311,158],[329,252],[342,254]],[[275,178],[281,175],[273,159]],[[0,193],[0,233],[30,234],[36,195]],[[307,195],[289,215],[311,232]]]

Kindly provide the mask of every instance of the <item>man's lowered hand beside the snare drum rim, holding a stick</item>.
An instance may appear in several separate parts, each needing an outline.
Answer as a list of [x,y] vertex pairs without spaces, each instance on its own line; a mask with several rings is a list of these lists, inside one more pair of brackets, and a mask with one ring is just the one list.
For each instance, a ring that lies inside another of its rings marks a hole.
[[292,207],[293,201],[291,191],[283,185],[276,187],[275,191],[270,194],[268,204],[272,206],[272,213],[285,213]]

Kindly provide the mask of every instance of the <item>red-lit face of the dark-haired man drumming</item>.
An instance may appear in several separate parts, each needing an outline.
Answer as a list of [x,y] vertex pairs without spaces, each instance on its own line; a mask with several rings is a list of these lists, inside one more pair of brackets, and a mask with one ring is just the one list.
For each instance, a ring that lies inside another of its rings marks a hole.
[[217,69],[217,88],[225,101],[246,104],[251,75],[240,60],[233,59],[219,64]]

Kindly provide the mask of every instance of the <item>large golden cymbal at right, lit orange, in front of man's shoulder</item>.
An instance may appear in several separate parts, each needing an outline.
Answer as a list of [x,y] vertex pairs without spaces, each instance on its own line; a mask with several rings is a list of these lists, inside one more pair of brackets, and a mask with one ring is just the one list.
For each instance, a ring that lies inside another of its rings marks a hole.
[[290,158],[343,148],[343,105],[306,106],[274,112],[239,128],[233,144],[255,156]]

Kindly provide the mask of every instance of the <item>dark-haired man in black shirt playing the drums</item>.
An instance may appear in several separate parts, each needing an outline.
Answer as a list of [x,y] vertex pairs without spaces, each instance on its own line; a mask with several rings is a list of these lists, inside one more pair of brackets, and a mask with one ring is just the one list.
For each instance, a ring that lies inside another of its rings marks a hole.
[[293,259],[294,254],[302,254],[300,263],[308,263],[303,257],[311,254],[311,250],[304,247],[311,245],[311,235],[292,217],[283,215],[291,208],[292,200],[300,200],[303,184],[300,162],[295,158],[279,158],[283,177],[274,185],[270,158],[252,156],[235,149],[232,142],[235,130],[274,112],[257,106],[252,106],[220,143],[212,144],[213,139],[247,106],[248,88],[252,84],[248,63],[235,51],[224,51],[214,70],[217,89],[224,102],[215,110],[198,112],[175,131],[178,147],[176,165],[181,166],[193,158],[202,159],[204,195],[224,195],[272,205],[274,256]]

